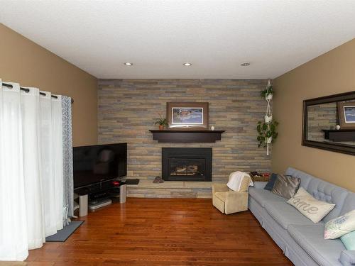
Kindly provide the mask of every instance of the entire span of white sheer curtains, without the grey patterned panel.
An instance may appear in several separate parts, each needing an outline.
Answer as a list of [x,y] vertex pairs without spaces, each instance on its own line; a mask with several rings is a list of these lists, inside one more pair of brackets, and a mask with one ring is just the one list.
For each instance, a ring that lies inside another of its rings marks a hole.
[[28,249],[64,221],[62,99],[0,79],[0,261]]

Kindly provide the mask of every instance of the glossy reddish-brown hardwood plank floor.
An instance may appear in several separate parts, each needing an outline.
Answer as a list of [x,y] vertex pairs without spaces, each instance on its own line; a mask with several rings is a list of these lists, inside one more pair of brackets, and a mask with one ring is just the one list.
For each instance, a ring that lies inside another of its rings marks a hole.
[[128,198],[80,220],[27,265],[292,265],[249,211],[226,216],[211,199]]

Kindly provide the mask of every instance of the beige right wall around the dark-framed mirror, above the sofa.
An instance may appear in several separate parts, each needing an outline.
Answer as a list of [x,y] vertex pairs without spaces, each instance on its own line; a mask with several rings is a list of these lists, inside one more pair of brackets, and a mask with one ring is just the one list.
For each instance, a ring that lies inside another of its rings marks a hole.
[[274,79],[274,117],[280,122],[272,168],[288,166],[355,192],[355,157],[301,145],[302,101],[355,90],[355,39]]

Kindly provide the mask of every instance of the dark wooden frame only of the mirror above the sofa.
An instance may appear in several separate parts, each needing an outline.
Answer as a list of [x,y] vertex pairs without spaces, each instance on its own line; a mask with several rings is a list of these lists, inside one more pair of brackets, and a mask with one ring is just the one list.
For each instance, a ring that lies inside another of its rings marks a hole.
[[322,96],[314,99],[307,99],[303,101],[303,121],[302,121],[302,145],[322,150],[329,150],[336,153],[346,153],[355,155],[355,145],[346,145],[341,143],[323,143],[320,141],[307,140],[308,135],[308,106],[316,104],[329,104],[338,101],[349,101],[355,99],[355,91],[345,92],[342,94],[334,94],[329,96]]

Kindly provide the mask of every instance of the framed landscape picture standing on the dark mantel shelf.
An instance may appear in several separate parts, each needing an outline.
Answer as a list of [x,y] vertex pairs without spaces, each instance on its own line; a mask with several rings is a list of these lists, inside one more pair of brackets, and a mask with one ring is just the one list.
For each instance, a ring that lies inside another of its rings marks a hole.
[[207,130],[208,102],[168,102],[166,118],[170,129]]

